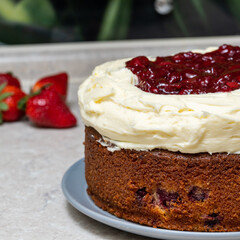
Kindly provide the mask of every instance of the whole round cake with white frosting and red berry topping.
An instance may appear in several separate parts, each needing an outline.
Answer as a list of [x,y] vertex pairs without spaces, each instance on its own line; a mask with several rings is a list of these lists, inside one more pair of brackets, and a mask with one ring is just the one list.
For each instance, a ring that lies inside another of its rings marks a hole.
[[95,68],[78,91],[88,194],[117,217],[240,230],[240,48]]

